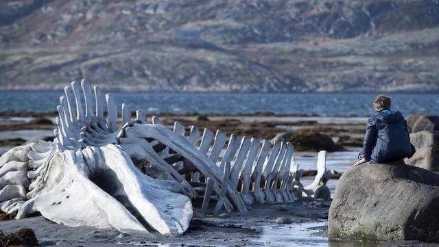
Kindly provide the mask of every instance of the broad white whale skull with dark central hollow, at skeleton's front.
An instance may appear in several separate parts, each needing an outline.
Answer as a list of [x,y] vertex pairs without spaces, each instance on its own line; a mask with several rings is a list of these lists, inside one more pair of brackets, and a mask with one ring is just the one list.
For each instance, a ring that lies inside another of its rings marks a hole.
[[[17,218],[38,211],[60,224],[115,227],[119,231],[147,231],[147,222],[162,234],[183,233],[189,226],[189,198],[169,192],[142,174],[121,148],[113,144],[87,147],[64,151],[57,159],[62,160],[49,166],[64,164],[64,177],[49,192],[28,200]],[[183,207],[173,210],[176,205]]]

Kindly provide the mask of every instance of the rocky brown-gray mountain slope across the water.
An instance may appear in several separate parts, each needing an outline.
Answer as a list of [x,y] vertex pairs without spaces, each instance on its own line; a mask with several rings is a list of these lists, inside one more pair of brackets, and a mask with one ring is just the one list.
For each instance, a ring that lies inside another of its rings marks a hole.
[[438,0],[0,2],[0,89],[439,92]]

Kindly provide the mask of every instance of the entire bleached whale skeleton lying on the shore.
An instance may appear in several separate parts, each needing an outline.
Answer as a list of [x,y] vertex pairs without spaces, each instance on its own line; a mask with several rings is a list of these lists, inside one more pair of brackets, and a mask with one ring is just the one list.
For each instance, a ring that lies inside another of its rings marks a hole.
[[147,122],[141,110],[132,119],[125,103],[119,122],[112,95],[84,79],[64,88],[56,109],[53,142],[0,157],[0,207],[16,218],[40,213],[68,226],[178,235],[189,227],[193,204],[202,216],[209,209],[218,216],[316,190],[300,183],[303,171],[289,142],[207,128],[201,134],[179,122],[170,129],[156,116]]

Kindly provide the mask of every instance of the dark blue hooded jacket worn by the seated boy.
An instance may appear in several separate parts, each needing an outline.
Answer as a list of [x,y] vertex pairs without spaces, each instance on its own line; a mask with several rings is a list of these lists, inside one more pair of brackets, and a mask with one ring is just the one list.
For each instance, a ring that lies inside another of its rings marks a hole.
[[415,148],[410,143],[407,122],[399,111],[385,109],[370,116],[363,155],[370,163],[395,161],[414,155]]

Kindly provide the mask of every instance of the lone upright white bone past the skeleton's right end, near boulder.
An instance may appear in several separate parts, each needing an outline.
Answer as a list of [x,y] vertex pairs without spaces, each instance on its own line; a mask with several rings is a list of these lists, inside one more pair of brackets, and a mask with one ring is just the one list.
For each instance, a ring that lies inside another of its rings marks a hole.
[[324,150],[318,152],[317,174],[311,184],[306,185],[304,188],[294,185],[297,190],[302,191],[306,196],[313,196],[313,198],[322,198],[324,200],[329,200],[331,198],[331,192],[327,187],[327,181],[331,179],[333,170],[327,170],[327,154],[328,152]]

